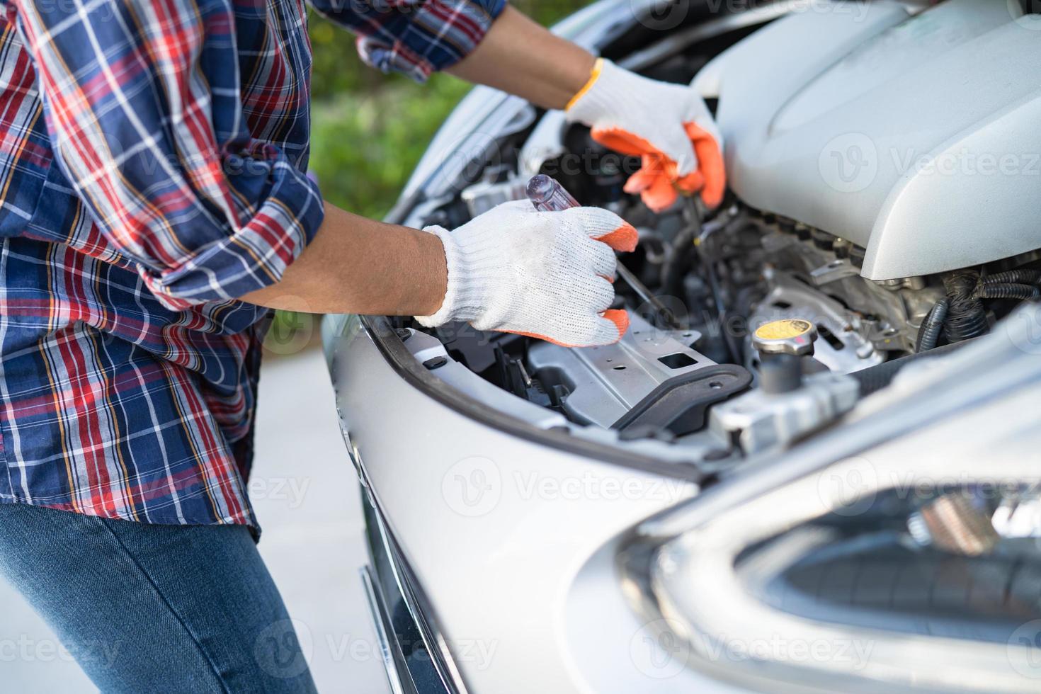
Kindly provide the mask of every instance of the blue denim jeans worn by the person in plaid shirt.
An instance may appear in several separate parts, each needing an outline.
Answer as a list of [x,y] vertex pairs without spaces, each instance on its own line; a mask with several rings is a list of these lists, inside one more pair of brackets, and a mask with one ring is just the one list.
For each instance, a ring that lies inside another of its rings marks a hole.
[[0,504],[0,572],[103,692],[313,692],[250,531]]

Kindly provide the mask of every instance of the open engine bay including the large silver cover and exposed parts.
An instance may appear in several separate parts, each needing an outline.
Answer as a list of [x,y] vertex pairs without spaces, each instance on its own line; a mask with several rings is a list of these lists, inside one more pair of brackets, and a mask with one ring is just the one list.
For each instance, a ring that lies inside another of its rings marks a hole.
[[[717,209],[681,198],[654,213],[623,190],[638,159],[559,112],[504,106],[465,184],[414,222],[453,228],[553,176],[637,228],[621,258],[637,282],[615,285],[631,328],[578,350],[447,326],[433,336],[451,360],[576,426],[709,462],[818,430],[1038,298],[1041,42],[1013,30],[1012,4],[797,4],[693,18],[664,38],[638,27],[602,48],[707,97],[730,177]],[[1014,157],[1018,175],[939,170],[968,155]]]

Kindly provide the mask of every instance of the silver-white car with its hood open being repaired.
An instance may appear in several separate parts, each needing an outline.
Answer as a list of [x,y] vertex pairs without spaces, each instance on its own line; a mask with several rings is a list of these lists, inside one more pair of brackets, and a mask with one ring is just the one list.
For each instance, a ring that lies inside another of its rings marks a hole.
[[393,222],[454,228],[544,173],[637,227],[639,281],[607,348],[326,318],[392,691],[1041,691],[1030,10],[603,0],[558,25],[706,97],[712,211],[652,213],[638,162],[559,112],[460,103]]

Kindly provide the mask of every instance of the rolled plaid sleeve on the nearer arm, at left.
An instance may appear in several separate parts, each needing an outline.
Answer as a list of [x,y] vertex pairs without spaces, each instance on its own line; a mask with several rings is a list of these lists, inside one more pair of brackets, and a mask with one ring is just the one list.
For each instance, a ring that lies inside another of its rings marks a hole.
[[54,163],[159,301],[183,310],[277,282],[324,207],[249,134],[228,0],[11,4]]

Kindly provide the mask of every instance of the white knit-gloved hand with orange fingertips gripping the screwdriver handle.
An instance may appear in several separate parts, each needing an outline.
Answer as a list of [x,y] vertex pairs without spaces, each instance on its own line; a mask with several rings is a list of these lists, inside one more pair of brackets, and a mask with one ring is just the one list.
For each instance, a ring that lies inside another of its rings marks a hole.
[[[636,230],[596,207],[539,212],[504,203],[455,231],[428,227],[445,245],[448,291],[428,328],[468,320],[564,346],[617,342],[629,314],[610,310],[614,250],[636,248]],[[613,250],[612,250],[613,249]]]

